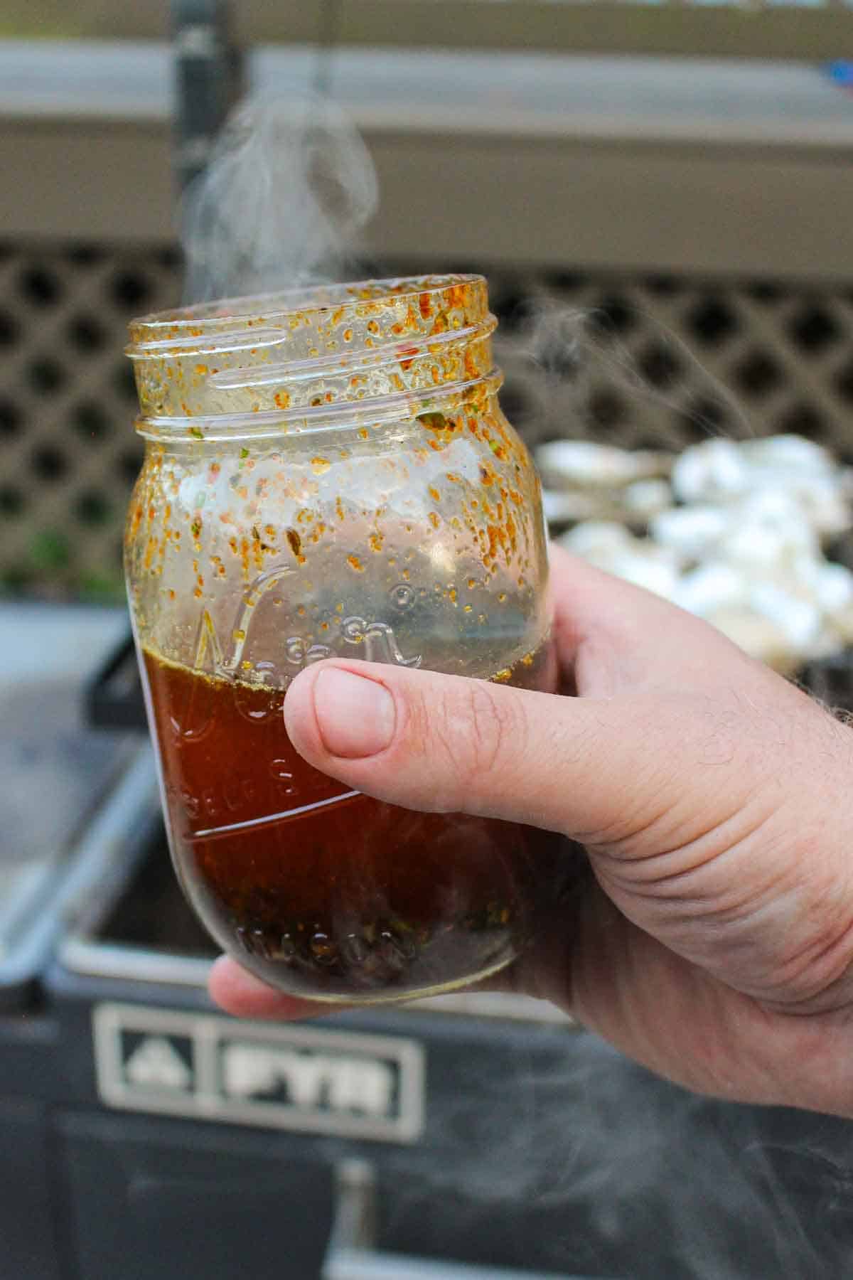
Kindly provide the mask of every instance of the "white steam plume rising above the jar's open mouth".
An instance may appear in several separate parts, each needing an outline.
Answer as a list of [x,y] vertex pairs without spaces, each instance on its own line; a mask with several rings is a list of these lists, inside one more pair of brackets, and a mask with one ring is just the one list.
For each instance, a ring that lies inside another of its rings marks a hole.
[[184,200],[187,301],[340,276],[376,202],[370,154],[334,102],[244,101]]

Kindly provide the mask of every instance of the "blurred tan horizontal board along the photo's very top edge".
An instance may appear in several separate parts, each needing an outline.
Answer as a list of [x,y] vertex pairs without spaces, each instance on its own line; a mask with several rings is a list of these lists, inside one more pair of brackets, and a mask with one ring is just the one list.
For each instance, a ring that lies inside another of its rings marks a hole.
[[[843,3],[774,5],[614,3],[614,0],[240,0],[231,8],[238,44],[258,42],[682,56],[838,58],[853,50],[853,8]],[[165,0],[5,0],[0,33],[65,38],[160,38]]]

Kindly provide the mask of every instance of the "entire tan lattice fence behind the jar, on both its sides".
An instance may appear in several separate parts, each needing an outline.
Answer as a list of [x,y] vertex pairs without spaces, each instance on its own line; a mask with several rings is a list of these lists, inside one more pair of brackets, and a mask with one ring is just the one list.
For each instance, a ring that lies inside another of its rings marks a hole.
[[[504,407],[528,439],[798,431],[853,462],[853,285],[487,274]],[[0,588],[120,595],[142,452],[127,321],[179,288],[162,247],[0,252]]]

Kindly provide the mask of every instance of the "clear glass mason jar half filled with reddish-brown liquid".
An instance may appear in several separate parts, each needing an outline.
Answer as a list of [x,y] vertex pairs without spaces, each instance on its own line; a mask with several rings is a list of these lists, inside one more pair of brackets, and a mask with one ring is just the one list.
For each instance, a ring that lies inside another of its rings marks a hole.
[[146,457],[127,580],[175,868],[226,951],[315,1000],[508,964],[555,837],[350,791],[281,708],[333,655],[552,689],[538,480],[486,282],[240,298],[130,326]]

